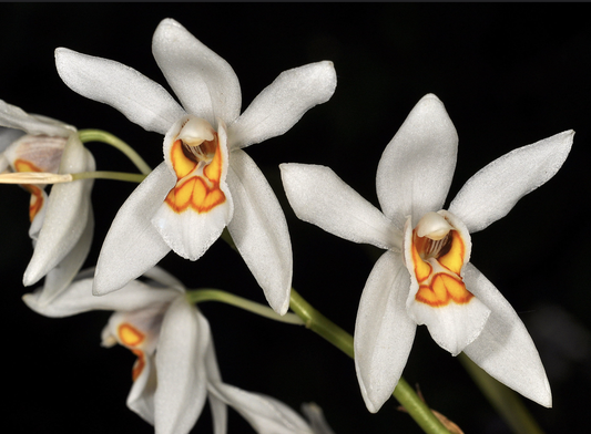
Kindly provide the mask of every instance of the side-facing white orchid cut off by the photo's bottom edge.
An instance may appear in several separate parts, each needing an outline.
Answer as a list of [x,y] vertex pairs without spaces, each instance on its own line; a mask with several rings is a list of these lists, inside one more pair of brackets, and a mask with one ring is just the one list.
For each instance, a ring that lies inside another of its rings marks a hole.
[[315,434],[295,411],[269,396],[222,382],[210,323],[187,302],[185,288],[159,267],[132,280],[121,291],[92,294],[93,269],[82,271],[50,303],[42,289],[23,297],[35,312],[62,318],[91,310],[113,310],[102,344],[130,349],[137,360],[128,406],[154,425],[156,434],[188,433],[208,399],[214,432],[225,433],[227,406],[264,434]]

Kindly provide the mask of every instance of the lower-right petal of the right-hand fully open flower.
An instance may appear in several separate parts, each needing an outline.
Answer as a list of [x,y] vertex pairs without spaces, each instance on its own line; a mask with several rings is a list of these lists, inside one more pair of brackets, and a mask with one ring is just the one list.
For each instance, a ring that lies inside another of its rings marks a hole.
[[463,352],[507,386],[546,407],[550,384],[523,322],[497,288],[471,264],[465,270],[470,290],[492,311],[487,326]]

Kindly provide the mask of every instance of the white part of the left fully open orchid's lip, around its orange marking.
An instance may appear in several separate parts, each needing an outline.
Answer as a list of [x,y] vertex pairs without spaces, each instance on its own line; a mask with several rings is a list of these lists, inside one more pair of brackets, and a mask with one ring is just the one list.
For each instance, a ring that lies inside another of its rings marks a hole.
[[[176,142],[176,127],[171,128],[164,138],[164,157],[171,173],[174,172],[174,167],[170,157],[170,151],[174,142]],[[226,182],[230,165],[226,144],[227,135],[222,122],[218,125],[218,151],[222,155],[220,190],[225,196],[224,203],[206,211],[197,211],[188,205],[186,209],[179,213],[167,203],[162,202],[152,217],[152,225],[159,231],[162,239],[176,255],[185,259],[197,260],[201,258],[217,238],[220,238],[220,235],[222,235],[222,231],[234,214],[234,200]],[[198,172],[198,167],[194,172]],[[202,177],[201,174],[196,174],[196,176]],[[192,177],[192,174],[188,174],[181,182],[190,183]]]

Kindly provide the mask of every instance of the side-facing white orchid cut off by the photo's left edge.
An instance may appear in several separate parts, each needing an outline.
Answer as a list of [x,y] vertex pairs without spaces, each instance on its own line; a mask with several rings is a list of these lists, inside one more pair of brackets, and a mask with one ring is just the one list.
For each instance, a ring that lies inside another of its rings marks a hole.
[[[0,173],[78,173],[94,170],[94,158],[73,126],[28,114],[0,101]],[[22,185],[31,194],[29,236],[33,256],[23,283],[45,277],[40,302],[64,290],[82,267],[92,242],[94,220],[90,193],[92,179],[44,185]]]

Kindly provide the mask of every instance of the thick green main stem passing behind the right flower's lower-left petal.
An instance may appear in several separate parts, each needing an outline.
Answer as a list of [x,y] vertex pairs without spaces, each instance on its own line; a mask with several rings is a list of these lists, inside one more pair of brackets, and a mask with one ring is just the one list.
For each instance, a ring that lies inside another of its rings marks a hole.
[[[289,307],[304,320],[308,329],[318,333],[349,358],[354,358],[353,337],[314,309],[293,288]],[[449,431],[441,424],[441,422],[439,422],[427,404],[422,402],[405,379],[400,378],[398,381],[398,385],[394,390],[394,396],[410,414],[415,422],[417,422],[422,431],[428,434],[449,434]]]

